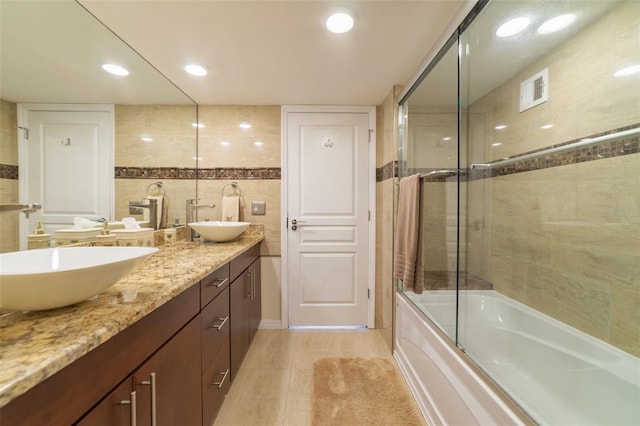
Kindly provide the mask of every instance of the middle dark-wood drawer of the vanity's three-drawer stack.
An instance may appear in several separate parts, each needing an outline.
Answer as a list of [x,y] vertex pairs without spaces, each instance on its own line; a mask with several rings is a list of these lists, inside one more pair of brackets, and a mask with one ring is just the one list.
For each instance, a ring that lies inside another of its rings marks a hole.
[[202,310],[201,321],[202,370],[204,371],[225,342],[229,340],[231,321],[229,318],[228,286]]

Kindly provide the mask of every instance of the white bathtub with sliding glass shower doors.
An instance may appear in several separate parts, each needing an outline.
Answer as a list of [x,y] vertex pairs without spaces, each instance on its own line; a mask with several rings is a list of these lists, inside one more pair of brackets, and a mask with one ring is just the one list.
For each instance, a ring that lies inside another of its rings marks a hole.
[[[411,303],[407,303],[405,297]],[[493,290],[467,290],[460,291],[459,295],[459,342],[466,356],[482,371],[476,372],[473,366],[467,365],[471,376],[476,377],[459,377],[455,371],[454,374],[448,371],[451,367],[446,364],[451,360],[447,361],[446,356],[433,347],[438,344],[451,346],[442,333],[411,330],[413,327],[433,328],[435,323],[452,335],[455,328],[455,292],[406,293],[397,299],[396,348],[402,358],[399,363],[405,364],[401,366],[403,373],[412,376],[408,380],[412,382],[414,394],[419,397],[428,393],[429,401],[420,405],[423,412],[426,410],[425,416],[431,417],[434,423],[451,423],[443,414],[447,409],[446,402],[442,406],[437,390],[429,389],[434,374],[444,372],[444,376],[448,374],[453,378],[454,383],[450,386],[463,393],[471,392],[476,385],[471,386],[472,390],[465,390],[461,381],[485,382],[484,385],[477,384],[476,391],[482,393],[484,388],[491,395],[471,395],[469,411],[478,424],[485,423],[473,411],[478,411],[478,407],[473,405],[482,404],[482,398],[488,398],[490,408],[486,409],[489,413],[484,414],[479,410],[479,416],[489,416],[485,419],[489,423],[497,424],[498,421],[490,419],[491,412],[496,409],[505,409],[512,417],[516,415],[517,410],[501,398],[500,390],[503,390],[539,424],[640,425],[638,358]],[[416,306],[433,323],[417,312]],[[428,344],[419,341],[425,337],[420,336],[424,333],[430,334],[426,336]],[[439,334],[440,339],[434,339],[433,334]],[[420,348],[423,354],[417,353],[416,348]],[[449,349],[451,356],[465,358],[456,348]],[[431,359],[426,361],[425,357]],[[426,362],[433,371],[422,371],[426,376],[418,377],[420,368],[413,365],[416,362]],[[465,360],[458,362],[464,363]],[[438,369],[440,371],[436,371]],[[500,390],[492,389],[491,382],[482,377],[482,372],[490,376]],[[461,399],[464,400],[464,395]],[[498,408],[491,408],[491,404]],[[514,418],[514,422],[518,420]]]

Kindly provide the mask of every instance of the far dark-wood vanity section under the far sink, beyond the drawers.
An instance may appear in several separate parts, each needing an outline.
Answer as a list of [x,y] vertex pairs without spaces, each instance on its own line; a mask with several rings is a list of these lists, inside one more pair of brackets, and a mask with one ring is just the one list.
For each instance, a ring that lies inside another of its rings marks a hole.
[[[256,246],[257,247],[257,246]],[[251,262],[246,261],[251,258]],[[246,269],[231,283],[231,380],[234,380],[240,365],[249,350],[262,315],[261,270],[259,252],[249,252],[239,259]],[[236,268],[239,271],[240,268]],[[234,271],[234,261],[231,262]]]

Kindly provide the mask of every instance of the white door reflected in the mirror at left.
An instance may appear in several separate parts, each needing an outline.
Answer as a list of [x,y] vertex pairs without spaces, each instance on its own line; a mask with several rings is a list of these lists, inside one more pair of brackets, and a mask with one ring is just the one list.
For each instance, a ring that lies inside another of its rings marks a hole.
[[21,248],[36,221],[53,234],[73,227],[76,216],[110,219],[113,107],[22,104],[19,122],[29,129],[28,139],[21,135],[21,201],[42,204],[22,220]]

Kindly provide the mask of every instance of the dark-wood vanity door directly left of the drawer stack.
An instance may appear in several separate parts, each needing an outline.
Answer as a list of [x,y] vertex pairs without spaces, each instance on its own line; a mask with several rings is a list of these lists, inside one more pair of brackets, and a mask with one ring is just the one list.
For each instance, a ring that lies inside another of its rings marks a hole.
[[200,316],[133,374],[138,425],[202,425]]

